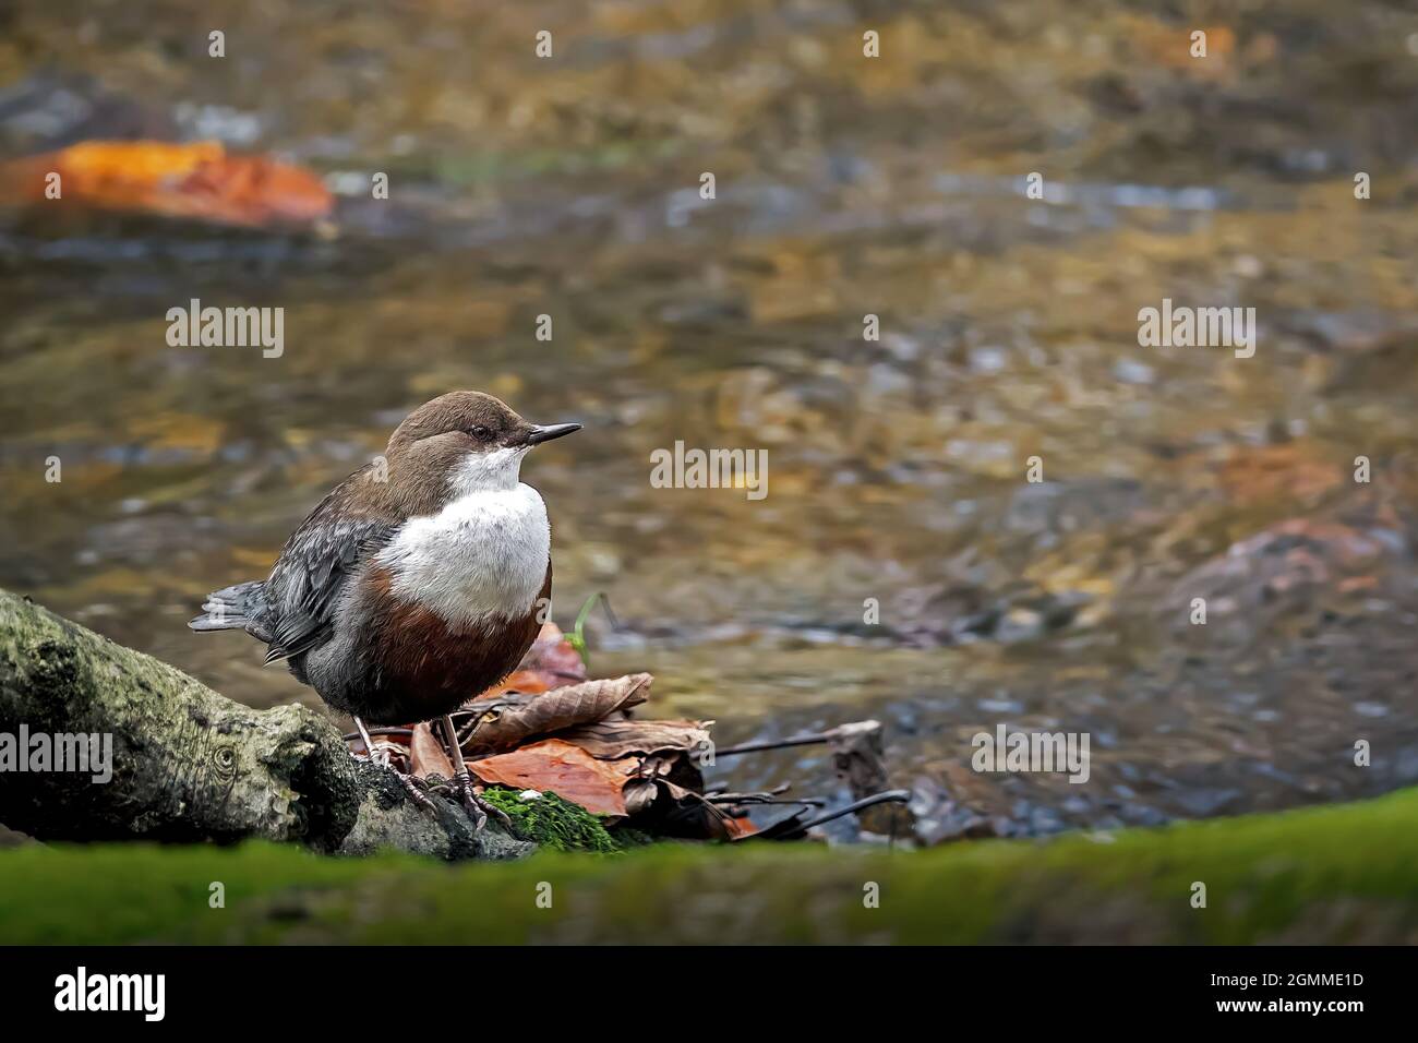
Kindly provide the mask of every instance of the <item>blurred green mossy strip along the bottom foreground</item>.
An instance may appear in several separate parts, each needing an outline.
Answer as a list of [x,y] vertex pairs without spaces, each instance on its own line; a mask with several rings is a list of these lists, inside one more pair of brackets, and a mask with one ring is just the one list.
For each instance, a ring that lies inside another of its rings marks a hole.
[[[0,851],[0,941],[1414,942],[1415,826],[1404,790],[925,853],[658,846],[445,866],[264,843],[21,847]],[[214,881],[225,908],[208,905]]]

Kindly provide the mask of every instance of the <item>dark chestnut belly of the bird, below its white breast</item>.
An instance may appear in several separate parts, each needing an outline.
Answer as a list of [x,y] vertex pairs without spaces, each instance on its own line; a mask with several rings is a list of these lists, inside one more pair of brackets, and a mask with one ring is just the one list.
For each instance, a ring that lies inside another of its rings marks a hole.
[[374,622],[362,641],[363,677],[346,692],[349,712],[369,724],[451,714],[516,670],[540,629],[535,610],[454,627],[427,609],[406,606]]

